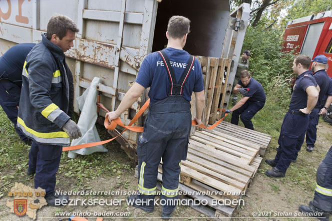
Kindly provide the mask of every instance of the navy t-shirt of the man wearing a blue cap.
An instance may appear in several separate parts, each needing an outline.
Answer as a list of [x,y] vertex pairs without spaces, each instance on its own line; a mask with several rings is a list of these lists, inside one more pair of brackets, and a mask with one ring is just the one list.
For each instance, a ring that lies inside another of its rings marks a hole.
[[323,69],[323,70],[316,71],[314,73],[314,78],[315,78],[317,84],[321,88],[316,107],[323,108],[324,104],[325,104],[325,99],[326,99],[326,96],[328,93],[328,89],[329,89],[330,77],[329,77],[328,73]]

